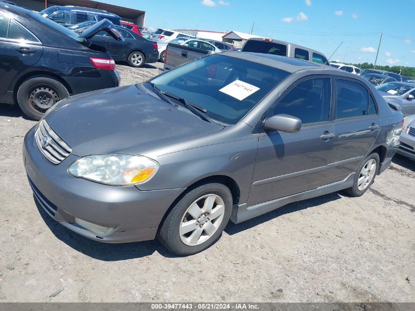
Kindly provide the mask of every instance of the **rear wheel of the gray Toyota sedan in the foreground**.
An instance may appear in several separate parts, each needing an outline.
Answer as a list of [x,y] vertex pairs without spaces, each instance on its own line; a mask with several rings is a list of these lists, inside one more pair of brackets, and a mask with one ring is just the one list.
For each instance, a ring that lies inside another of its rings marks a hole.
[[371,153],[358,166],[352,187],[345,189],[344,192],[352,197],[363,195],[375,181],[375,176],[379,170],[379,154]]

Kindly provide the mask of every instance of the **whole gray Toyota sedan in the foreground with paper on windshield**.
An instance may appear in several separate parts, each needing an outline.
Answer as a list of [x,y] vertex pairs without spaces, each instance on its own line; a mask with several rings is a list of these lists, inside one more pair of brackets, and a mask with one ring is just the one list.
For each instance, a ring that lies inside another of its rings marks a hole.
[[61,225],[201,252],[293,201],[363,195],[396,153],[402,113],[365,79],[269,54],[201,57],[137,85],[60,101],[27,133],[34,197]]

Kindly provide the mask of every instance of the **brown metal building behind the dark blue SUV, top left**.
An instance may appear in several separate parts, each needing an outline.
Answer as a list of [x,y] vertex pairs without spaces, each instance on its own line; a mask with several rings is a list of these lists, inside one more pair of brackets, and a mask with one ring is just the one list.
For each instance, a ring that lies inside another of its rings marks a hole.
[[19,6],[26,7],[31,10],[41,11],[52,5],[75,5],[90,7],[94,9],[105,10],[121,17],[121,20],[134,23],[144,27],[145,11],[130,9],[118,5],[102,3],[92,0],[12,0]]

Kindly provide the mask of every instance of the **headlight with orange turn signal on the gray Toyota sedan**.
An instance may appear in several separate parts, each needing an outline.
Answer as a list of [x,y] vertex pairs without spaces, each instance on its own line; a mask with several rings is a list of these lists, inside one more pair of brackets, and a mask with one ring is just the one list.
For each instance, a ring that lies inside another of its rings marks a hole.
[[82,177],[113,186],[139,185],[149,181],[159,164],[147,157],[129,154],[85,156],[68,169],[75,177]]

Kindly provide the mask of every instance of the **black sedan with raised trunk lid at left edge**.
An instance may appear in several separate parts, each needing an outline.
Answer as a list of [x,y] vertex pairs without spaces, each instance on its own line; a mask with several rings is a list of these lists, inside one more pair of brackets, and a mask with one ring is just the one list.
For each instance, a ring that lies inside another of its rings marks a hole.
[[124,40],[108,20],[78,35],[35,12],[0,2],[0,103],[18,103],[38,120],[69,95],[118,86],[111,55],[89,41],[102,30]]

